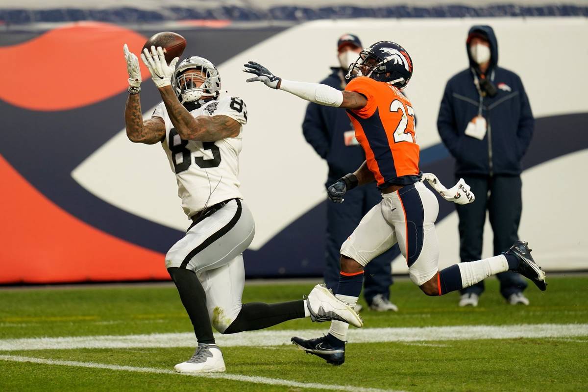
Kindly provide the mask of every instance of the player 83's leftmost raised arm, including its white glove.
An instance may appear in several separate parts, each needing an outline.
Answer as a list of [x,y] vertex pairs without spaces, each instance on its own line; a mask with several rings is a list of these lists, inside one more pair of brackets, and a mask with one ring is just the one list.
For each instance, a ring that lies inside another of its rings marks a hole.
[[126,136],[135,143],[155,144],[165,138],[165,125],[163,119],[152,118],[143,122],[141,112],[141,69],[139,59],[135,53],[129,51],[126,45],[122,48],[125,53],[126,71],[129,73],[129,98],[125,105]]

